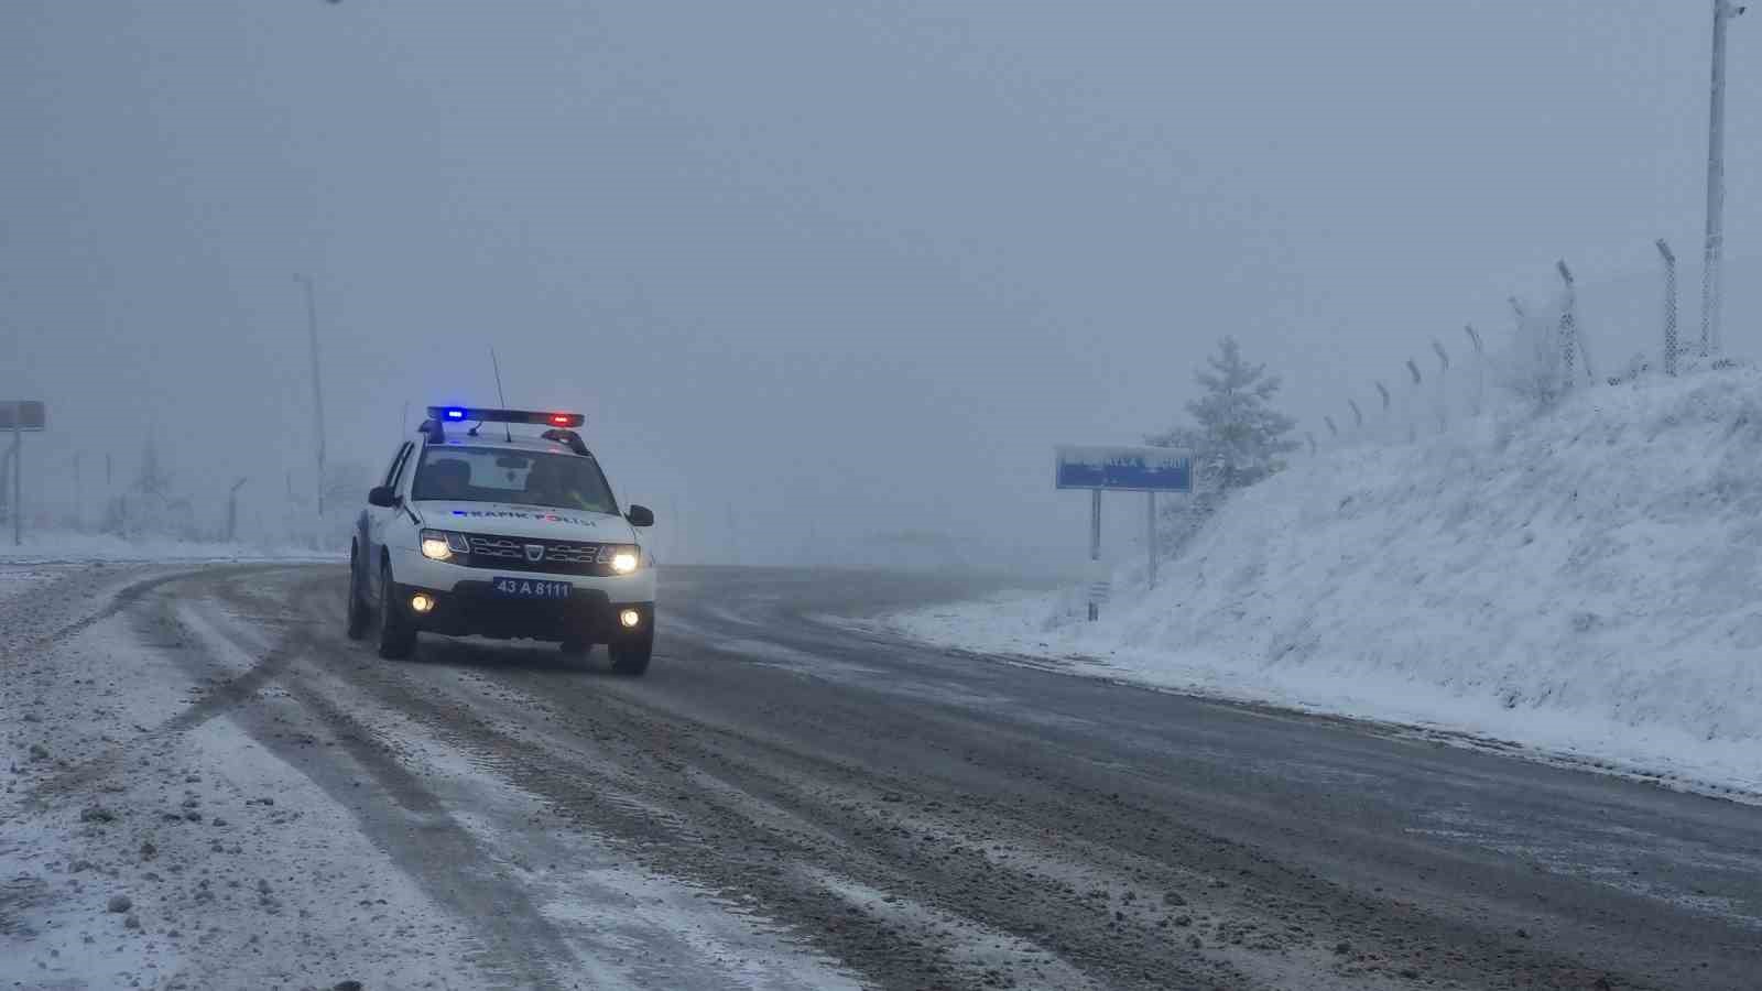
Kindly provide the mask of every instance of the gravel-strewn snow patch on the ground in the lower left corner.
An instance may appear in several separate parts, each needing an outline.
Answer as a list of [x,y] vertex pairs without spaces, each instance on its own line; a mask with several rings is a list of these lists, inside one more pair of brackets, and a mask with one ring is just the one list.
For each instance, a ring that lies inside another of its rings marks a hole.
[[[44,580],[90,614],[107,571]],[[125,617],[46,644],[25,628],[62,617],[23,600],[0,603],[0,986],[488,986],[465,926],[307,776],[224,716],[167,725],[201,686]]]

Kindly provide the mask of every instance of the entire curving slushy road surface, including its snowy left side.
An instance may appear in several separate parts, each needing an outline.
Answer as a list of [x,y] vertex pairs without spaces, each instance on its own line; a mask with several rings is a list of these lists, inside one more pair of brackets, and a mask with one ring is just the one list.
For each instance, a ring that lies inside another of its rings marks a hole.
[[18,571],[0,986],[1762,972],[1762,809],[818,619],[973,582],[671,570],[629,681],[520,645],[381,661],[333,564]]

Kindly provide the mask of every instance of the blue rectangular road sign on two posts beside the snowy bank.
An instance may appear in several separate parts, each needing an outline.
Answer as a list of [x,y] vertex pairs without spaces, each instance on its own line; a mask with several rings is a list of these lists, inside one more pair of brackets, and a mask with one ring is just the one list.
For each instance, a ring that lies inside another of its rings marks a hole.
[[1052,453],[1054,488],[1089,490],[1089,621],[1094,622],[1108,596],[1108,582],[1101,575],[1101,492],[1145,494],[1145,547],[1151,555],[1147,580],[1156,587],[1156,494],[1193,492],[1193,453],[1110,444],[1057,444]]

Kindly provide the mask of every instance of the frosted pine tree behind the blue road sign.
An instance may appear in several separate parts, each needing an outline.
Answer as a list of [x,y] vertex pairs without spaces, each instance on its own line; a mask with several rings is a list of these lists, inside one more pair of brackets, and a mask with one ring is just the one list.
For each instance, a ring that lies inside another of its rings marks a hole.
[[1288,437],[1297,420],[1272,409],[1279,377],[1265,365],[1242,360],[1233,337],[1218,342],[1218,354],[1205,358],[1210,370],[1195,376],[1205,390],[1188,402],[1193,425],[1147,437],[1159,448],[1193,451],[1193,496],[1173,499],[1165,510],[1168,547],[1179,548],[1218,504],[1235,488],[1246,488],[1284,467],[1283,455],[1300,444]]

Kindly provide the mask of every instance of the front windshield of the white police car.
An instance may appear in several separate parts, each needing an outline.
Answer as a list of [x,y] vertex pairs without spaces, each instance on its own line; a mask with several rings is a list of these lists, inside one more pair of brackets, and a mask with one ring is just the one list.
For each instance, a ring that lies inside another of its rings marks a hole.
[[411,499],[618,511],[594,458],[497,448],[423,448]]

